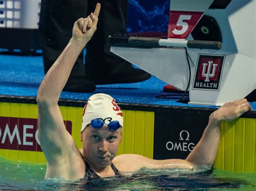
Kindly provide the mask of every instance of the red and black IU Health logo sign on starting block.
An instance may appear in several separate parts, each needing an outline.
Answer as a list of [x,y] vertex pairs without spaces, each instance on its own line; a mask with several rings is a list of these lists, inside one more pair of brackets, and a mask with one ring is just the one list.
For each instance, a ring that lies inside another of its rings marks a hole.
[[199,54],[192,89],[218,91],[225,55]]

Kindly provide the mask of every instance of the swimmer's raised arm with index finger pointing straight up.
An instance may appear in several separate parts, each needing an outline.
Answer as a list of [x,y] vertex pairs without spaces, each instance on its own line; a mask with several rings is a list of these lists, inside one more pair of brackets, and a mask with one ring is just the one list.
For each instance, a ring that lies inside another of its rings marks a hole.
[[94,13],[75,22],[72,38],[38,89],[38,138],[48,164],[68,155],[76,147],[65,129],[58,100],[78,55],[96,31],[99,10],[100,4],[97,4]]

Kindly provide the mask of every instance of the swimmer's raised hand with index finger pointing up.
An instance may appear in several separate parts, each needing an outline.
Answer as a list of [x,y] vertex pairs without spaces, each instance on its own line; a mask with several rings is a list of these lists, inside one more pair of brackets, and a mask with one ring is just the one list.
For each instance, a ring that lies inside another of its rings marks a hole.
[[100,4],[97,3],[94,13],[91,13],[87,18],[79,18],[72,31],[72,38],[84,40],[87,43],[97,29]]

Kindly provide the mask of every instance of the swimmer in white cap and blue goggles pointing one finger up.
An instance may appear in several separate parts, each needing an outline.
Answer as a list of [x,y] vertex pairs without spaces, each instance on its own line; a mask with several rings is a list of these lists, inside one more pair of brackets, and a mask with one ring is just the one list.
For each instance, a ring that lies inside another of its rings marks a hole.
[[193,168],[212,166],[220,139],[221,121],[232,121],[251,109],[247,100],[225,103],[214,111],[199,143],[185,160],[153,160],[138,154],[116,157],[122,138],[123,114],[114,99],[106,94],[92,95],[84,107],[78,150],[66,131],[58,100],[71,69],[97,29],[100,4],[87,18],[78,19],[72,38],[45,75],[38,89],[38,138],[47,169],[45,178],[79,180],[109,177],[146,168]]

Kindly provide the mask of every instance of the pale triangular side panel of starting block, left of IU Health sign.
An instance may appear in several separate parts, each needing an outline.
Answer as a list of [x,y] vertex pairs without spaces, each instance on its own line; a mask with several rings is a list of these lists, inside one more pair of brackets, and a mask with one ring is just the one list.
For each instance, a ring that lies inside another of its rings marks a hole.
[[172,84],[172,86],[179,90],[184,90],[187,87],[188,67],[184,48],[129,48],[112,46],[111,52],[134,63],[160,80]]

